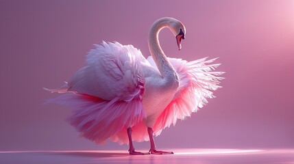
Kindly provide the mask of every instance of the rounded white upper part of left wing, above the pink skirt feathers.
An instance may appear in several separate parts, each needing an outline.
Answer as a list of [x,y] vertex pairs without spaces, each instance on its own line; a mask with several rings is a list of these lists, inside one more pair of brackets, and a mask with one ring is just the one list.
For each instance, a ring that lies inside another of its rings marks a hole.
[[130,101],[142,96],[144,77],[140,68],[142,53],[132,45],[103,42],[86,56],[86,66],[69,81],[69,91],[103,100]]

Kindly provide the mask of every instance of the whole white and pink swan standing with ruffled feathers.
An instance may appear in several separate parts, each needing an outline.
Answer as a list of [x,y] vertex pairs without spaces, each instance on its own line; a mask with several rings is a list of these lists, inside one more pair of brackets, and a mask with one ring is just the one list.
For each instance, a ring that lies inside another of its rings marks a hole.
[[119,42],[95,44],[86,55],[86,66],[69,82],[49,92],[61,93],[50,102],[69,106],[68,119],[82,137],[104,143],[107,139],[130,146],[133,141],[150,141],[147,154],[173,154],[156,149],[154,135],[175,125],[214,98],[223,72],[215,72],[220,64],[215,59],[185,61],[164,55],[158,33],[167,27],[182,48],[186,28],[175,18],[160,18],[151,26],[147,59],[132,45]]

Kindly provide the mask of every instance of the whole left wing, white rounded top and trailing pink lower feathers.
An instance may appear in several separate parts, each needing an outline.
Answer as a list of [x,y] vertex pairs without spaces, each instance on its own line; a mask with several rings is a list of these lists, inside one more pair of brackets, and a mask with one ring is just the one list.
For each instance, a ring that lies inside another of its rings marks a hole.
[[60,90],[49,90],[65,92],[51,101],[73,108],[69,123],[83,137],[96,143],[108,138],[128,143],[127,136],[118,136],[119,132],[146,117],[142,56],[132,45],[96,45],[86,57],[86,66],[69,83]]

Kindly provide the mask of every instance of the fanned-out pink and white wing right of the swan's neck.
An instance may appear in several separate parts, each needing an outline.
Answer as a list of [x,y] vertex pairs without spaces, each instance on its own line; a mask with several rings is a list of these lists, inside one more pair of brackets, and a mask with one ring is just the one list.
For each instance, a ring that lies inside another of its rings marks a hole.
[[[159,135],[163,128],[175,124],[177,119],[183,120],[206,105],[208,98],[215,97],[212,91],[221,87],[219,81],[223,78],[219,75],[223,72],[214,71],[220,65],[211,64],[215,59],[206,59],[207,57],[187,62],[182,59],[169,58],[179,75],[180,87],[173,100],[156,120],[153,127],[156,135]],[[156,67],[152,57],[148,57],[147,60]]]

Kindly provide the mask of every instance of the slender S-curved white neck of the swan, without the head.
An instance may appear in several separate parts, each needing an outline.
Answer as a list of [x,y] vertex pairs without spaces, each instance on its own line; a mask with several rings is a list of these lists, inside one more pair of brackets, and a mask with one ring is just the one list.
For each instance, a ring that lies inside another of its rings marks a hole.
[[171,63],[167,59],[167,56],[164,55],[164,52],[162,51],[158,40],[158,33],[160,32],[160,30],[165,27],[172,29],[172,22],[173,18],[160,18],[156,20],[156,22],[151,26],[149,30],[148,46],[151,56],[153,57],[162,77],[169,77],[168,79],[178,81],[177,73],[175,72],[173,66],[171,66]]

